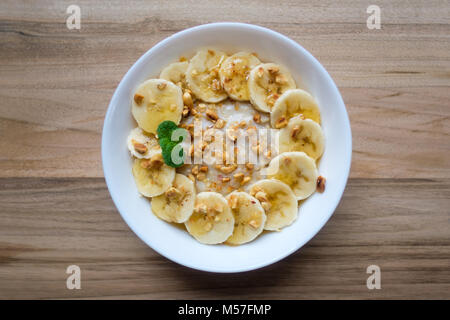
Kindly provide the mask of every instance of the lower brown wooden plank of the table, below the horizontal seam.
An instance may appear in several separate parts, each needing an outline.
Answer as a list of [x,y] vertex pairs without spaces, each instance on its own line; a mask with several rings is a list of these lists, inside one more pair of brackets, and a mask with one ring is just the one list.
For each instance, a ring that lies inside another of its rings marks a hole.
[[[0,298],[448,299],[450,179],[351,179],[304,248],[255,272],[209,274],[159,256],[103,179],[0,179]],[[82,289],[65,287],[68,265]],[[366,268],[381,268],[381,290]]]

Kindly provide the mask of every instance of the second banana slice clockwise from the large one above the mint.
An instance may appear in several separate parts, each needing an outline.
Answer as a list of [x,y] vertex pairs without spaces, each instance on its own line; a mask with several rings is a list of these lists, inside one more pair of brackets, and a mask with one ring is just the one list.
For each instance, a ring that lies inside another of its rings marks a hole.
[[205,102],[227,98],[219,79],[219,68],[226,54],[217,50],[200,50],[189,62],[186,80],[194,95]]

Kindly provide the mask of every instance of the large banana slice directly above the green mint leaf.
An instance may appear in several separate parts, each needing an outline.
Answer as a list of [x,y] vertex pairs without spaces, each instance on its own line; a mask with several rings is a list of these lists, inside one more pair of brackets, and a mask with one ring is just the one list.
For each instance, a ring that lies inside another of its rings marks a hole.
[[164,120],[180,123],[183,111],[181,89],[164,79],[150,79],[142,83],[133,96],[131,113],[139,127],[156,133]]

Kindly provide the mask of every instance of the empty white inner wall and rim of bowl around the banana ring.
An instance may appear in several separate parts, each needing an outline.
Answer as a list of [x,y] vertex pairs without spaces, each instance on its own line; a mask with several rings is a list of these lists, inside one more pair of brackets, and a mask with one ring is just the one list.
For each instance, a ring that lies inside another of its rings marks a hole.
[[[186,231],[158,219],[150,203],[139,196],[126,147],[131,116],[131,95],[145,79],[180,56],[192,56],[200,47],[226,52],[257,52],[264,62],[288,68],[299,87],[318,101],[326,138],[319,172],[326,177],[324,193],[314,193],[299,208],[298,219],[281,232],[264,233],[241,246],[204,245]],[[342,97],[324,67],[293,40],[272,30],[242,23],[213,23],[176,33],[148,50],[117,87],[106,113],[102,161],[111,197],[130,228],[151,248],[184,266],[210,272],[241,272],[277,262],[298,250],[324,226],[341,199],[352,153],[350,122]]]

